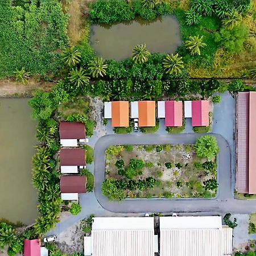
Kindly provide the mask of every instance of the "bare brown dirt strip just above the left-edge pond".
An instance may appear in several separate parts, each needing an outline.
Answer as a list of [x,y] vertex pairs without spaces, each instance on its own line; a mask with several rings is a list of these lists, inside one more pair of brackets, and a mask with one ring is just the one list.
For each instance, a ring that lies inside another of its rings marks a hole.
[[31,97],[36,89],[51,90],[54,82],[28,81],[27,84],[19,84],[13,80],[0,80],[0,97]]

